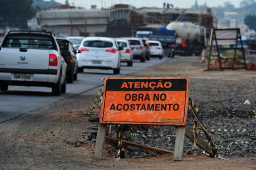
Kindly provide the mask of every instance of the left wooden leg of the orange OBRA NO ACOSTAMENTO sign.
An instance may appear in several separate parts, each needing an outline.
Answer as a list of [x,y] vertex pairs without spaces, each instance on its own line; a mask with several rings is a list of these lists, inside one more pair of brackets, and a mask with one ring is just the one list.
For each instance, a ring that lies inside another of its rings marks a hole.
[[107,132],[107,125],[98,123],[98,132],[96,137],[95,154],[96,160],[102,159],[103,147]]

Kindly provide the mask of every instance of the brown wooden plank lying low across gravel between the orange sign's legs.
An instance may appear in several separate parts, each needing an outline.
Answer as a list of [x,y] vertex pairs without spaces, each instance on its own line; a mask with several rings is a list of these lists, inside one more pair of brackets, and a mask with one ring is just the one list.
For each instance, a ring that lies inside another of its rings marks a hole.
[[[117,139],[112,138],[112,137],[110,137],[109,140],[110,140],[110,142],[115,142],[115,143],[118,142]],[[146,145],[136,144],[134,142],[129,142],[127,140],[122,140],[122,144],[125,145],[125,146],[131,146],[131,147],[137,147],[137,148],[140,148],[140,149],[150,150],[150,151],[156,152],[158,154],[173,154],[173,151],[170,151],[170,150],[159,149],[157,147],[149,147],[149,146],[146,146]]]

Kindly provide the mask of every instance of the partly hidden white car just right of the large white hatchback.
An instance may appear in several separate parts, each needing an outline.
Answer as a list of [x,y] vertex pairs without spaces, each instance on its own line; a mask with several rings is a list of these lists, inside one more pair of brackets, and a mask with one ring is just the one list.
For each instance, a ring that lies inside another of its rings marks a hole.
[[132,66],[133,62],[133,53],[130,47],[129,41],[125,39],[117,39],[119,47],[122,47],[123,50],[121,53],[121,62],[127,62],[128,66]]

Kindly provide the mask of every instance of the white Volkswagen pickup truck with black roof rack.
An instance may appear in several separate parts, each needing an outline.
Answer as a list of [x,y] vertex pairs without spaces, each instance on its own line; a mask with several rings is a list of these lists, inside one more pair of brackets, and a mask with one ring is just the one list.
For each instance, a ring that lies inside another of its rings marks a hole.
[[0,89],[44,86],[66,93],[67,64],[54,36],[47,31],[9,31],[0,47]]

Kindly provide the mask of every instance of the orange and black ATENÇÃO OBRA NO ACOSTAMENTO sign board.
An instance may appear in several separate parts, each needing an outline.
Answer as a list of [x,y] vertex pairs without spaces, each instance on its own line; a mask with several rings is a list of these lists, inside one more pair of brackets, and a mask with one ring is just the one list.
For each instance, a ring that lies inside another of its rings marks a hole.
[[107,77],[100,123],[186,125],[187,77]]

